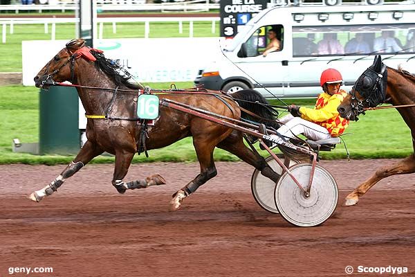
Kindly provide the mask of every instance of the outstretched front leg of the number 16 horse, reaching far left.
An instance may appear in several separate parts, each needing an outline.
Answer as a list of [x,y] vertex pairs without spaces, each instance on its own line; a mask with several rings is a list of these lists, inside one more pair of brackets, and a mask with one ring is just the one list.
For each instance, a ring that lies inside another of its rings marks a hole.
[[80,150],[77,154],[75,159],[69,163],[68,166],[62,171],[62,173],[53,180],[48,186],[42,188],[41,190],[36,190],[35,192],[31,193],[28,198],[35,202],[39,202],[40,200],[44,199],[44,197],[53,194],[62,184],[64,183],[65,179],[68,179],[72,175],[74,175],[77,171],[79,171],[86,163],[89,163],[91,159],[97,157],[99,154],[102,154],[102,150],[98,148],[97,145],[91,143],[91,141],[86,141],[84,147]]

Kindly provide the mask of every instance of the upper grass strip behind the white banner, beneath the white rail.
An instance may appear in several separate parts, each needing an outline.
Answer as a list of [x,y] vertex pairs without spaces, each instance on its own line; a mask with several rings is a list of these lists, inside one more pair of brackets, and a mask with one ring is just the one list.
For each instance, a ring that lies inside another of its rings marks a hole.
[[[178,33],[178,23],[150,23],[149,37],[189,37],[189,22],[183,22],[183,33]],[[49,33],[44,33],[43,24],[15,25],[14,33],[7,33],[6,44],[0,45],[0,72],[21,72],[21,42],[23,40],[50,40]],[[194,22],[194,37],[216,37],[219,35],[219,23],[212,34],[212,22]],[[113,34],[112,24],[104,24],[103,38],[143,38],[144,23],[117,24],[117,33]],[[56,24],[56,39],[75,38],[75,24]],[[35,55],[35,51],[33,53]]]

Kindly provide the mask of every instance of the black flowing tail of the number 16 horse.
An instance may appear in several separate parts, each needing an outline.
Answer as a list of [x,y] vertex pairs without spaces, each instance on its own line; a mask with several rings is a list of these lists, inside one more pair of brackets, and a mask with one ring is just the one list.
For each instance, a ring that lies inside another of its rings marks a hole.
[[229,95],[234,98],[239,107],[247,109],[252,112],[252,114],[258,116],[252,116],[245,111],[241,111],[241,118],[248,121],[263,123],[266,127],[272,127],[273,129],[279,128],[280,124],[276,120],[278,111],[270,107],[268,101],[258,91],[255,91],[254,89],[243,89]]

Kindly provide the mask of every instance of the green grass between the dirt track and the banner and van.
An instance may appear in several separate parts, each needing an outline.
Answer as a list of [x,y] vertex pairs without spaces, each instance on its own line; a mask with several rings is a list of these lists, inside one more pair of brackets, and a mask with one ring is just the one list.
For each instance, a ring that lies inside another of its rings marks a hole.
[[[168,89],[169,83],[150,83],[154,89]],[[192,82],[177,83],[178,88],[192,87]],[[288,104],[312,106],[314,99],[286,99]],[[275,105],[277,100],[271,101]],[[35,87],[0,87],[0,163],[57,164],[73,159],[65,156],[36,156],[12,152],[12,139],[22,143],[39,141],[39,89]],[[284,114],[284,113],[282,113]],[[344,135],[344,141],[352,159],[400,158],[413,152],[409,128],[395,109],[367,111],[366,116],[352,122]],[[266,155],[266,152],[261,152]],[[342,144],[332,152],[322,152],[323,159],[342,159],[346,151]],[[149,159],[136,155],[133,163],[148,161],[196,161],[192,139],[178,141],[167,148],[151,150]],[[214,157],[220,161],[237,161],[237,157],[223,150],[215,150]],[[102,156],[93,163],[113,162],[113,157]]]

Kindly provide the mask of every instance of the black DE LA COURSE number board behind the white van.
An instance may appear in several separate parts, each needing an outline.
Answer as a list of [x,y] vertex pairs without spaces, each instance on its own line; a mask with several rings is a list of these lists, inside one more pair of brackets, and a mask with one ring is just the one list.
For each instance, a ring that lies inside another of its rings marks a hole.
[[234,37],[268,0],[221,0],[221,37]]

